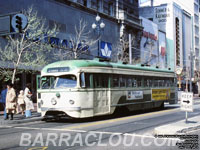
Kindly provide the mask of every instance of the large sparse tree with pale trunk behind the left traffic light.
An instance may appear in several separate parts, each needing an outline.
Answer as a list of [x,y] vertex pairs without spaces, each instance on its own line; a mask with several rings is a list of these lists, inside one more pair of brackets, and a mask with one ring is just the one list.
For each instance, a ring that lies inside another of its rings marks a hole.
[[[35,70],[37,67],[48,63],[46,54],[52,50],[52,47],[45,44],[45,40],[58,33],[58,27],[54,25],[50,30],[45,19],[38,17],[38,13],[33,9],[33,6],[22,13],[28,19],[27,27],[18,34],[6,36],[7,44],[0,47],[1,60],[9,63],[13,68],[12,83],[15,81],[15,75],[19,71],[19,67],[28,67],[29,70]],[[2,67],[0,72],[8,76],[11,73],[9,69],[5,70]]]

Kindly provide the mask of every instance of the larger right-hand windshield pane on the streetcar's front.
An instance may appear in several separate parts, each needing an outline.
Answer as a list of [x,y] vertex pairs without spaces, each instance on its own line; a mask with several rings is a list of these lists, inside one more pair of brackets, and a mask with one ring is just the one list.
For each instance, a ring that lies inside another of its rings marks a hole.
[[55,88],[73,88],[77,85],[77,79],[74,75],[59,76]]

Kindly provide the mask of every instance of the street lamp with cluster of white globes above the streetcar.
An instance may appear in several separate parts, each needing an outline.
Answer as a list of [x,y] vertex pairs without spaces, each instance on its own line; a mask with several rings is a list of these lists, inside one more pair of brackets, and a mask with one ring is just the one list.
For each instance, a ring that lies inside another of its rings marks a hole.
[[98,14],[95,19],[96,19],[96,23],[92,24],[92,29],[94,29],[94,31],[96,31],[98,34],[98,38],[99,38],[99,40],[98,40],[98,57],[99,57],[99,52],[100,52],[100,47],[101,47],[100,46],[100,36],[105,27],[105,23],[103,23],[103,21],[101,21],[101,17]]

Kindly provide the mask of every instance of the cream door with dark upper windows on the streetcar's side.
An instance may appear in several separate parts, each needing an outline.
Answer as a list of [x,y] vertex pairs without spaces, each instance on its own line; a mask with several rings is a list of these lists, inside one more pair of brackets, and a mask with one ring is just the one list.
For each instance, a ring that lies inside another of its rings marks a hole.
[[110,113],[110,86],[108,74],[94,74],[94,115]]

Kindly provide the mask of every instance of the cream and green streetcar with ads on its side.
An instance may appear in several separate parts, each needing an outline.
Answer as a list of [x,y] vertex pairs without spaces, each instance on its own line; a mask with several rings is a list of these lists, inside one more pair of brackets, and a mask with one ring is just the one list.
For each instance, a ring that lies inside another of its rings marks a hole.
[[86,118],[177,103],[170,69],[94,60],[59,61],[41,71],[38,112],[44,118]]

